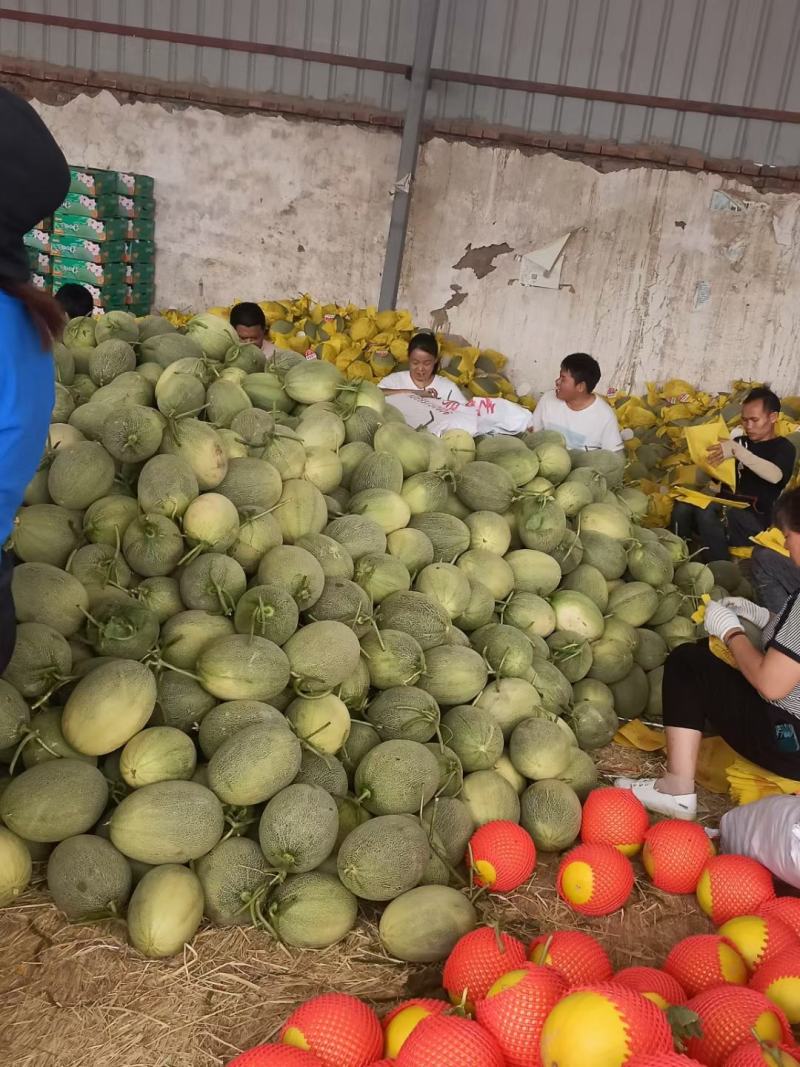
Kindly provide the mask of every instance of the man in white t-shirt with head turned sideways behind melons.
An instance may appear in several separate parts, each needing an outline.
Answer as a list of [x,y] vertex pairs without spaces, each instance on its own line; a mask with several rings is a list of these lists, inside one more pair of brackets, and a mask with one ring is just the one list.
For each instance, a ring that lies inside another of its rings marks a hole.
[[573,352],[561,364],[553,393],[539,400],[531,428],[558,430],[567,448],[605,448],[618,452],[623,448],[617,415],[605,400],[594,395],[599,381],[597,361],[586,352]]

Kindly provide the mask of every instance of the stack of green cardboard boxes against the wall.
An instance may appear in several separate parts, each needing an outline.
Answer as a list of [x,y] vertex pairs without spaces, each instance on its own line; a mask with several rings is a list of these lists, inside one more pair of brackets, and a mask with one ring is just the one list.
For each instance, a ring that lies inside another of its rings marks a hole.
[[[46,253],[53,291],[73,282],[89,289],[98,314],[147,315],[156,272],[153,178],[79,166],[69,173],[69,192],[53,216]],[[33,253],[37,246],[31,240],[28,235]]]

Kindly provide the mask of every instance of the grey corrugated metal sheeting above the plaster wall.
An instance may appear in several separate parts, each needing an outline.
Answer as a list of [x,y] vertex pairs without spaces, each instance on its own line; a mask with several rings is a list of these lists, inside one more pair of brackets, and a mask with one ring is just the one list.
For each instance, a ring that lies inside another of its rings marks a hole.
[[[427,0],[16,0],[102,20],[410,64]],[[800,111],[798,0],[442,0],[434,67]],[[400,74],[0,18],[0,52],[165,82],[401,112]],[[591,141],[800,163],[800,125],[434,80],[427,114]]]

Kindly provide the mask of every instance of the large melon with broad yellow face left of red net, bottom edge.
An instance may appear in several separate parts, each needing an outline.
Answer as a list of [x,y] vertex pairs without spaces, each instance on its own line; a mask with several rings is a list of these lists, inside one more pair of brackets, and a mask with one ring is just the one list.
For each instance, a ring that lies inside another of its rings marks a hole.
[[541,1057],[548,1067],[622,1065],[639,1052],[671,1050],[672,1031],[665,1013],[612,983],[567,993],[542,1028]]

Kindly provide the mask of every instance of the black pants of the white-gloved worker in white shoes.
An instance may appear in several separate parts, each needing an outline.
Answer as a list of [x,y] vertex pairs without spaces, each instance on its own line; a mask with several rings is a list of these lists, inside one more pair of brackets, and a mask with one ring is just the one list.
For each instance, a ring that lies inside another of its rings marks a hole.
[[800,737],[800,719],[758,696],[740,671],[709,652],[707,641],[679,644],[669,654],[662,697],[666,727],[710,727],[746,760],[800,779],[800,752],[782,751],[775,734],[775,727],[787,724]]

